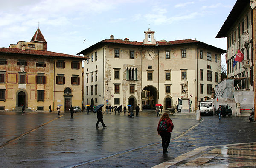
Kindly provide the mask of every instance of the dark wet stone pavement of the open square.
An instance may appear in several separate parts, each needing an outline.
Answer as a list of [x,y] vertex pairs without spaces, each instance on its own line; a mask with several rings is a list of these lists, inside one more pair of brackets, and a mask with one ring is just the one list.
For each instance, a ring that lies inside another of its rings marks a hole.
[[93,113],[75,113],[73,119],[68,113],[56,117],[56,113],[0,113],[4,121],[0,123],[0,167],[152,167],[201,146],[256,141],[256,123],[245,117],[219,122],[217,116],[203,116],[200,123],[195,115],[171,116],[174,131],[169,153],[163,155],[156,130],[160,118],[154,112],[134,118],[104,114],[105,129],[101,123],[95,129]]

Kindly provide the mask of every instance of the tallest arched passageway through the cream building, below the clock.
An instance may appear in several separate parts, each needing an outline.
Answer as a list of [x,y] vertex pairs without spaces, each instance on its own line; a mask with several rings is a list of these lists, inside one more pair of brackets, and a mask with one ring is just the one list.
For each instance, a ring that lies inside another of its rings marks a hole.
[[[150,93],[148,95],[143,95],[143,90],[148,90]],[[147,101],[151,108],[154,108],[154,105],[158,103],[158,90],[152,85],[145,86],[142,90],[142,101]],[[143,104],[143,103],[142,103]],[[145,104],[143,104],[145,105]]]

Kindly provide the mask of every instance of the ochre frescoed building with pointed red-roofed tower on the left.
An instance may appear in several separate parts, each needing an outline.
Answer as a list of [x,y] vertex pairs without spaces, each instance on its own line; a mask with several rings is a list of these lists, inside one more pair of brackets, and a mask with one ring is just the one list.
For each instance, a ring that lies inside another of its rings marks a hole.
[[[61,111],[82,104],[82,56],[47,51],[38,28],[30,42],[0,48],[0,110]],[[80,82],[81,81],[81,82]]]

